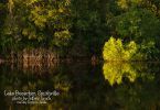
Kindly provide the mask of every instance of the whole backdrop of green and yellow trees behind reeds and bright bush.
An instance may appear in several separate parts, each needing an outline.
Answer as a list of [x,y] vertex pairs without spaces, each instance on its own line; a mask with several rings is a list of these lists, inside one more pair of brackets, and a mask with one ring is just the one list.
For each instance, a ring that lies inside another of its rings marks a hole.
[[119,48],[134,41],[145,59],[160,59],[159,30],[159,0],[0,1],[2,56],[42,47],[63,57],[102,58],[105,42],[115,36],[122,41]]

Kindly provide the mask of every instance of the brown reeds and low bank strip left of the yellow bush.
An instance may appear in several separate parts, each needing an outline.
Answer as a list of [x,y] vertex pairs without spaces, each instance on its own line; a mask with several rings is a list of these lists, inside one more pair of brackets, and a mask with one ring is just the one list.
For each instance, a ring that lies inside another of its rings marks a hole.
[[53,50],[46,48],[25,48],[21,52],[11,52],[6,58],[0,58],[0,63],[25,63],[25,64],[41,64],[41,63],[72,63],[72,62],[102,62],[96,55],[88,57],[62,57]]

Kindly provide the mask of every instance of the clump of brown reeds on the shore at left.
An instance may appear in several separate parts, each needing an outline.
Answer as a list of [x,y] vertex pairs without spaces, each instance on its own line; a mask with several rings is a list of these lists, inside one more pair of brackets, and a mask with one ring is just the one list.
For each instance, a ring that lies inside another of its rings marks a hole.
[[11,52],[10,59],[12,62],[19,62],[24,64],[41,64],[41,63],[51,63],[57,62],[58,55],[57,52],[49,48],[24,48],[18,53]]

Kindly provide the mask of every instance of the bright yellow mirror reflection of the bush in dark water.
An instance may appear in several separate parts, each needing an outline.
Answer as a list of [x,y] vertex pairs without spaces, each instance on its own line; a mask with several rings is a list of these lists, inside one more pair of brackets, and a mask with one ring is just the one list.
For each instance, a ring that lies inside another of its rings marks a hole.
[[137,73],[127,63],[106,63],[103,67],[105,79],[113,86],[114,84],[121,84],[122,77],[127,77],[130,81],[135,81]]

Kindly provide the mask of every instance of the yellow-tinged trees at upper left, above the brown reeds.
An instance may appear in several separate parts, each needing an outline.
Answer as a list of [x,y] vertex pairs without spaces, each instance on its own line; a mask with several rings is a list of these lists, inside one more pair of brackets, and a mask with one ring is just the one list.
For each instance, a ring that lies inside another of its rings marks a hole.
[[3,52],[67,46],[72,38],[70,6],[70,0],[9,0],[1,28]]

